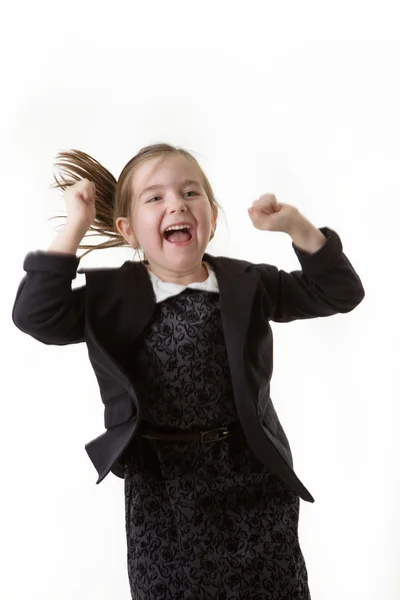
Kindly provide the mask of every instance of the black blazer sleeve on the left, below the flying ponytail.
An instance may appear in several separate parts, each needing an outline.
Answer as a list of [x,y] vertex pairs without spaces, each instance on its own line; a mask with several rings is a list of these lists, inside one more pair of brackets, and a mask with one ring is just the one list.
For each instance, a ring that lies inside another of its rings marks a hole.
[[26,275],[12,309],[16,327],[43,344],[64,346],[83,342],[85,288],[72,289],[80,259],[73,254],[29,252]]

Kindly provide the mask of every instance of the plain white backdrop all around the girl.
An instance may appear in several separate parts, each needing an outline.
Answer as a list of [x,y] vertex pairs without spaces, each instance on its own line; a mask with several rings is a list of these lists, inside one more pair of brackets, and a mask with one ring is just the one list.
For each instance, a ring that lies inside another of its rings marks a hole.
[[[86,347],[45,346],[11,309],[22,264],[61,221],[60,150],[119,176],[144,145],[193,152],[225,213],[208,251],[293,270],[261,232],[263,193],[338,232],[366,296],[272,324],[271,395],[295,469],[313,600],[400,597],[400,41],[395,2],[44,2],[1,31],[0,597],[127,600],[123,480],[84,450],[103,432]],[[58,230],[55,228],[58,227]],[[130,249],[81,266],[119,266]],[[79,275],[73,285],[82,285]]]

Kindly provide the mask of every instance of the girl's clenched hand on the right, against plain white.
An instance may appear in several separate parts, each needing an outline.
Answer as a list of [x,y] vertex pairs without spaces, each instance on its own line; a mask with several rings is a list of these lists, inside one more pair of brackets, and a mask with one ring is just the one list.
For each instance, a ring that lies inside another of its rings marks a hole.
[[300,215],[295,206],[278,202],[274,194],[263,194],[253,202],[247,212],[256,229],[283,233],[292,231]]

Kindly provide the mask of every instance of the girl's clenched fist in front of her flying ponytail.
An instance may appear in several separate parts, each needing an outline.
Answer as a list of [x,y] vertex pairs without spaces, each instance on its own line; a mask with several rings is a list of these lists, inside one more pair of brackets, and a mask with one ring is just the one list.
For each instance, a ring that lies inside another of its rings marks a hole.
[[89,179],[81,179],[69,186],[64,193],[69,226],[85,233],[96,217],[96,186]]

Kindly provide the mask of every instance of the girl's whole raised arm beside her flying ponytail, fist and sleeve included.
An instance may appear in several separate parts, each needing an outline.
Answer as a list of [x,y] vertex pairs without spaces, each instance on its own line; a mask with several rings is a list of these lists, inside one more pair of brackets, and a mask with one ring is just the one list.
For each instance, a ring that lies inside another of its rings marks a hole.
[[16,327],[44,344],[84,341],[85,286],[72,289],[79,258],[78,246],[93,223],[96,188],[88,179],[64,194],[67,221],[47,252],[27,254],[25,277],[19,284],[12,319]]

